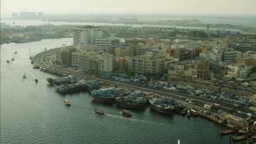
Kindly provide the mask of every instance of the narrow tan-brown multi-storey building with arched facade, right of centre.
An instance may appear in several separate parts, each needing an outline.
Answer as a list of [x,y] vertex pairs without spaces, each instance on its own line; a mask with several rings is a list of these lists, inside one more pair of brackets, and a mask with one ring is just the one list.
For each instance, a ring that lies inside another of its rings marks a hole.
[[208,80],[210,76],[210,61],[203,60],[195,64],[197,79]]

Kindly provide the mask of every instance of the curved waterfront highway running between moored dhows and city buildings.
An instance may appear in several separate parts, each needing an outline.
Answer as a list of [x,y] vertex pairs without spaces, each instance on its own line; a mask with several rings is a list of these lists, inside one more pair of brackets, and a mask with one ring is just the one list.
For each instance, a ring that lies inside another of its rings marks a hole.
[[[99,80],[101,80],[105,83],[115,84],[115,85],[117,85],[117,83],[122,83],[122,85],[118,85],[118,86],[119,87],[125,87],[125,88],[135,88],[135,89],[143,88],[146,91],[158,93],[158,94],[163,95],[163,96],[172,97],[173,99],[179,99],[179,96],[183,96],[187,99],[196,99],[197,102],[195,102],[195,104],[200,106],[200,107],[203,107],[203,105],[205,103],[220,104],[222,107],[224,107],[224,110],[226,110],[228,113],[230,113],[232,115],[234,115],[234,112],[231,111],[232,109],[235,109],[237,111],[242,111],[242,112],[245,112],[245,113],[251,113],[253,115],[255,114],[254,111],[251,110],[251,109],[247,109],[247,108],[244,108],[244,107],[236,107],[236,106],[234,106],[234,104],[228,103],[228,102],[225,102],[225,101],[207,99],[207,98],[203,98],[203,97],[200,97],[200,96],[193,96],[193,95],[189,95],[189,94],[185,94],[185,93],[167,91],[167,90],[158,89],[158,88],[151,88],[151,87],[144,86],[144,85],[138,86],[138,85],[136,85],[136,83],[119,82],[119,81],[115,81],[115,80],[112,80],[112,79],[109,79],[109,78],[106,78],[106,77],[93,77],[92,75],[85,74],[84,72],[80,72],[78,70],[70,70],[70,69],[67,69],[67,68],[63,68],[61,66],[54,65],[50,62],[52,52],[53,52],[53,50],[48,50],[48,51],[44,51],[42,53],[39,53],[34,57],[34,61],[36,61],[36,63],[39,64],[40,67],[45,67],[46,69],[50,69],[50,68],[48,68],[48,66],[51,66],[52,71],[54,71],[53,68],[56,68],[55,71],[63,73],[63,74],[68,74],[67,72],[69,72],[69,75],[73,74],[73,75],[77,75],[77,76],[81,76],[81,77],[87,77],[87,78],[90,78],[90,79],[99,79]],[[40,57],[39,57],[39,55],[40,55]],[[45,61],[43,61],[43,59],[45,59]],[[41,61],[43,63],[40,63]],[[247,117],[246,115],[238,114],[237,112],[236,112],[236,116],[238,116],[238,117]]]

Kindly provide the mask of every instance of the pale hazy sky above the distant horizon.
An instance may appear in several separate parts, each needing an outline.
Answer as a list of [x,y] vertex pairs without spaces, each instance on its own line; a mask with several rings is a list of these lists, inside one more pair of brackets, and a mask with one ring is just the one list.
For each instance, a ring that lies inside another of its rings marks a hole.
[[1,14],[44,13],[232,13],[256,14],[256,0],[0,0]]

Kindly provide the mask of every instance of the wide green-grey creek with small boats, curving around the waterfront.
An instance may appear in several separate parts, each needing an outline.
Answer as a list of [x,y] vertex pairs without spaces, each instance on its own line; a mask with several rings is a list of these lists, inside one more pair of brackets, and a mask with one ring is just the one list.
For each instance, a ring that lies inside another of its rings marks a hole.
[[[57,76],[32,69],[28,58],[62,43],[70,45],[72,38],[1,45],[1,144],[176,144],[178,139],[182,144],[229,142],[229,136],[217,138],[217,130],[224,127],[201,117],[163,116],[146,107],[131,110],[132,117],[125,118],[115,104],[92,101],[88,93],[54,92],[46,78]],[[6,63],[11,57],[15,60]],[[63,104],[64,99],[71,102],[70,107]],[[94,109],[103,109],[106,115],[95,115]]]

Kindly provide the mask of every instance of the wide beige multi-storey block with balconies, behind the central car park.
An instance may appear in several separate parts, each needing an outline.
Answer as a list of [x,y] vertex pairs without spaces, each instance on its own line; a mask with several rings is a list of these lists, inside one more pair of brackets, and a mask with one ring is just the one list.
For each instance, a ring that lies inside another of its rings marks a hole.
[[164,56],[147,53],[147,55],[132,56],[128,59],[129,70],[150,75],[163,74],[165,72]]

